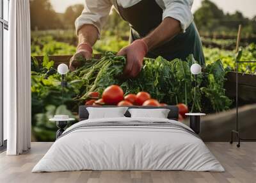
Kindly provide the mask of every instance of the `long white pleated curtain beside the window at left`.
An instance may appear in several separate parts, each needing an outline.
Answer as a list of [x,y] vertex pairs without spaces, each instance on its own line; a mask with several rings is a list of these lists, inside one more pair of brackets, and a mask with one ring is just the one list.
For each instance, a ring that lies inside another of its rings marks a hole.
[[29,0],[10,1],[8,61],[4,62],[4,120],[8,155],[31,144]]

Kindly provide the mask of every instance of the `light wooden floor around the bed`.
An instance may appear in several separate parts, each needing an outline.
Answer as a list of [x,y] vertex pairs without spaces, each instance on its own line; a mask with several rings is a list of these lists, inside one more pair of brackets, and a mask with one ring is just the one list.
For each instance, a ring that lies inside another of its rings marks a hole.
[[31,173],[31,169],[52,143],[32,143],[28,152],[19,156],[0,154],[0,182],[256,182],[256,142],[236,144],[206,143],[224,166],[225,172],[194,171],[66,171]]

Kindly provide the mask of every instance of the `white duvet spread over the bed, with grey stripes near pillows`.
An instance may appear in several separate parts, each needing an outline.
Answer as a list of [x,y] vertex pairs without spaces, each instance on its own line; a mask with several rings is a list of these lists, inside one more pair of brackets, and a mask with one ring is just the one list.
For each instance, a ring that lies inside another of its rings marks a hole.
[[[193,134],[168,127],[91,127],[93,122],[180,122],[163,118],[84,120],[57,139],[32,172],[73,170],[225,171],[204,142]],[[191,130],[191,129],[190,129]]]

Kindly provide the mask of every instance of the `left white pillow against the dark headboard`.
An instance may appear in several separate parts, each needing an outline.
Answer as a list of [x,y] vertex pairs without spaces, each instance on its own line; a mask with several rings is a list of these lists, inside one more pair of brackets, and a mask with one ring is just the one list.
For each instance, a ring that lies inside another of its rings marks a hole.
[[124,114],[128,107],[87,107],[89,119],[96,118],[120,118],[125,117]]

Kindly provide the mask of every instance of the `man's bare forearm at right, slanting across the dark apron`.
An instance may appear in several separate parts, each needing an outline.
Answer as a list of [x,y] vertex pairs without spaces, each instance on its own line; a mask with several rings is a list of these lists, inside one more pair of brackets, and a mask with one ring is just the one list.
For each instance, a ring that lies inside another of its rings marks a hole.
[[161,22],[161,24],[154,29],[149,35],[145,36],[143,40],[148,45],[148,50],[152,50],[160,45],[171,40],[181,31],[180,22],[176,19],[168,17]]

